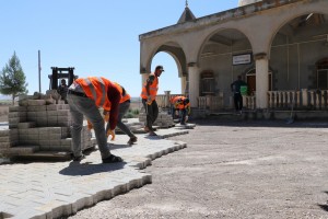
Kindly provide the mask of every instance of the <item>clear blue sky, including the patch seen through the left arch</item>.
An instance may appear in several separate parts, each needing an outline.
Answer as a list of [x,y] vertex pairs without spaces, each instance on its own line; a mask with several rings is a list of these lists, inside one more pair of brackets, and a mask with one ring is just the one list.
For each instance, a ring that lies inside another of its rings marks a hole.
[[[196,18],[236,8],[238,0],[189,0]],[[177,23],[185,0],[10,0],[1,2],[0,70],[15,51],[30,94],[49,88],[50,67],[74,67],[79,77],[102,76],[122,84],[131,96],[141,90],[139,35]],[[174,59],[159,53],[160,91],[180,92]]]

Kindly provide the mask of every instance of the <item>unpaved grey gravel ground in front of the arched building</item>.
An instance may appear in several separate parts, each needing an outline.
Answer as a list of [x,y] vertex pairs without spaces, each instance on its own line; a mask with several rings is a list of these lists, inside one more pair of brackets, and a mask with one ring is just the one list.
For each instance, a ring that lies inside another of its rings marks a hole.
[[[328,218],[328,124],[198,122],[187,148],[144,171],[152,184],[81,218]],[[133,146],[138,147],[138,145]]]

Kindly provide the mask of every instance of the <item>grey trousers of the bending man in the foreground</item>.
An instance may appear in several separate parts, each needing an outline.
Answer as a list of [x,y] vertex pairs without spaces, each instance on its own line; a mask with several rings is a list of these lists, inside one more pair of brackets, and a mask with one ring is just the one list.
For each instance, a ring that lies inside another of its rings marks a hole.
[[74,94],[67,95],[68,104],[70,105],[72,116],[72,151],[74,157],[82,155],[81,149],[81,130],[83,127],[83,115],[93,125],[97,145],[102,154],[102,159],[110,155],[107,146],[107,137],[105,132],[104,118],[99,113],[95,102],[89,97],[78,96]]

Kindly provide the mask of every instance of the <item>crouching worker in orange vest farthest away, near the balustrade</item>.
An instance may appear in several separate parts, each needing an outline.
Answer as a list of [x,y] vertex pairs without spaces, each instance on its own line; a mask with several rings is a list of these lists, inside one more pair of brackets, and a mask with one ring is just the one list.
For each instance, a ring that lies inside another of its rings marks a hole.
[[186,96],[175,96],[171,100],[172,104],[172,117],[175,118],[175,114],[178,111],[181,113],[180,124],[186,125],[187,113],[190,114],[190,101]]

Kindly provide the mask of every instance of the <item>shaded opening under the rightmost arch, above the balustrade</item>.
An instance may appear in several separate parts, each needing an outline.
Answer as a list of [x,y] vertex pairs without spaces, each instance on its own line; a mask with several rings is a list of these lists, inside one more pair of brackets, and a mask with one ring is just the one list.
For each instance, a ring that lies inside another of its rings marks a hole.
[[270,64],[278,90],[316,89],[316,61],[328,53],[328,13],[302,10],[286,14],[270,38]]

